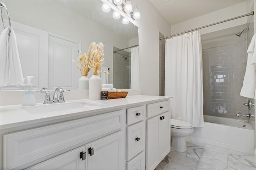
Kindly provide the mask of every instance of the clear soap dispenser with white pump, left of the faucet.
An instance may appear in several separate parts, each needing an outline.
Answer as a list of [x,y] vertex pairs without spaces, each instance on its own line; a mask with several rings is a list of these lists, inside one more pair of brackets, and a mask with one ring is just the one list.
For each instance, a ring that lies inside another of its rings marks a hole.
[[31,84],[31,79],[34,76],[26,76],[27,84],[25,84],[25,92],[23,96],[23,101],[21,106],[34,106],[36,105],[36,98],[34,95],[33,84]]

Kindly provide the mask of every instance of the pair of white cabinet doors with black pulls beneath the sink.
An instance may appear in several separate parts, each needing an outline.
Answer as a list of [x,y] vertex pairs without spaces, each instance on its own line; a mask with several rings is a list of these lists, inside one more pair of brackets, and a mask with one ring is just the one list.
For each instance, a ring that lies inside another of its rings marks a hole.
[[26,170],[121,170],[125,132],[119,131]]

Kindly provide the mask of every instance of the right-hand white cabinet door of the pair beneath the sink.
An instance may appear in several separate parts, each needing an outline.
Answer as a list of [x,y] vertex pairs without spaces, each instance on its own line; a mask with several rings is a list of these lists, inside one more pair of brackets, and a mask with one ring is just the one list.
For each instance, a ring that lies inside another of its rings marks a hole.
[[87,170],[124,170],[125,131],[119,131],[86,145]]

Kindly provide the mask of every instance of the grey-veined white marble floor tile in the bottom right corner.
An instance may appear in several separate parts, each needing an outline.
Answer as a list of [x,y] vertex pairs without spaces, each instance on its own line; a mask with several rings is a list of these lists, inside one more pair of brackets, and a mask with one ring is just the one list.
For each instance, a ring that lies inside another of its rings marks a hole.
[[256,170],[256,158],[250,154],[228,150],[228,166],[234,170]]

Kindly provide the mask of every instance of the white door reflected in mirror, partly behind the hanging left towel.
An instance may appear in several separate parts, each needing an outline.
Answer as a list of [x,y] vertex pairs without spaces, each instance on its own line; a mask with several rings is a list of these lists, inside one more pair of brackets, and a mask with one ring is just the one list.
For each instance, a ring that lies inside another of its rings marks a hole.
[[[8,21],[4,20],[4,23]],[[48,32],[14,21],[12,28],[16,35],[23,77],[34,76],[32,79],[34,86],[47,87]]]

